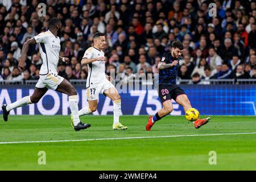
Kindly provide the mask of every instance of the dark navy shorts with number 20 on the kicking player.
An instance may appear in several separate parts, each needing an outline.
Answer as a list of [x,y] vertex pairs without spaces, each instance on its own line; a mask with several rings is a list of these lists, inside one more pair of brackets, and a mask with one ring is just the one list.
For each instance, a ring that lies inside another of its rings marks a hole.
[[181,94],[185,94],[185,91],[177,85],[159,85],[158,96],[162,103],[171,99],[176,101]]

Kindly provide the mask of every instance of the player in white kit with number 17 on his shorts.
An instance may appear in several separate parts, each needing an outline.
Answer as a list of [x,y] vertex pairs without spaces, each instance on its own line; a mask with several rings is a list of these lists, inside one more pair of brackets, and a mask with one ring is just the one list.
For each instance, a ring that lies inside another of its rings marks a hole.
[[[121,97],[119,96],[115,86],[109,81],[112,78],[105,75],[105,56],[102,49],[106,44],[105,34],[97,32],[93,35],[93,47],[88,48],[81,64],[88,64],[88,77],[86,81],[86,92],[88,107],[79,110],[79,116],[86,115],[96,111],[98,104],[98,95],[100,93],[109,97],[113,101],[114,112],[114,130],[126,130],[127,126],[123,126],[119,122],[121,114]],[[108,77],[108,78],[107,78]]]

